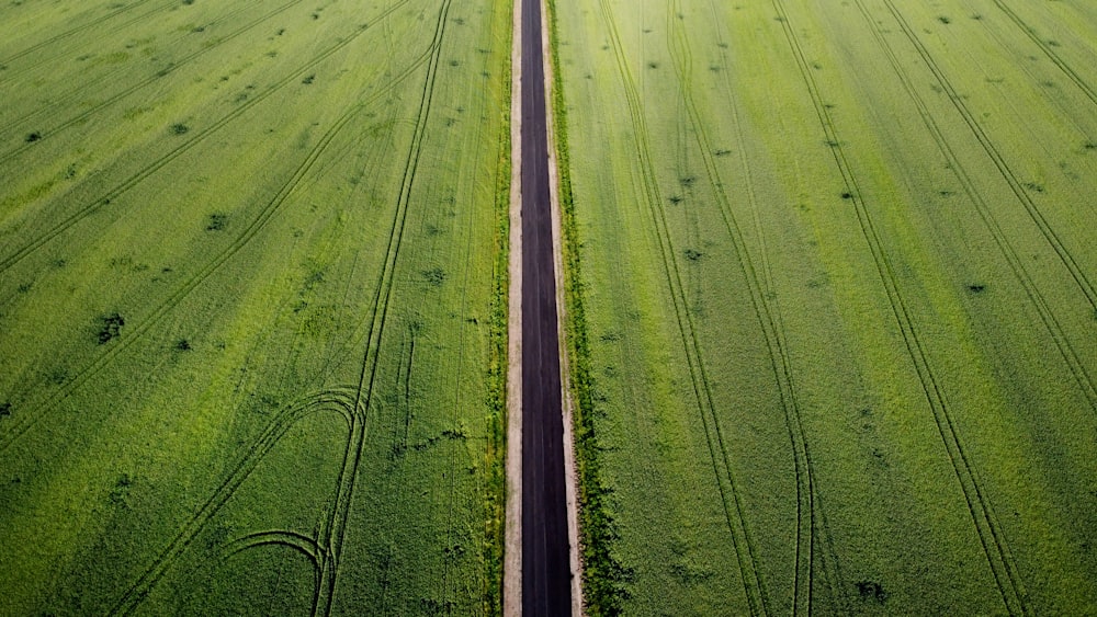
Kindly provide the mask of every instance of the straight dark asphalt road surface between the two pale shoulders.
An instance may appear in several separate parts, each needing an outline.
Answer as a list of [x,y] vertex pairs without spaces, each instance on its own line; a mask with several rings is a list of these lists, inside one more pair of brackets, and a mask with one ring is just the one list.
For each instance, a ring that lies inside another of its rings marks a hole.
[[572,613],[541,0],[522,2],[522,615]]

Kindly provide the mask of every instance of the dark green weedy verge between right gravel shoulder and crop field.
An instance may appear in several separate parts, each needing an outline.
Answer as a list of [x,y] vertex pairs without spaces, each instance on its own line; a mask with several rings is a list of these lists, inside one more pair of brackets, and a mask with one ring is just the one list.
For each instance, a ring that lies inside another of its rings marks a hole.
[[[557,46],[556,3],[548,0],[552,66],[561,66]],[[553,71],[553,132],[559,173],[559,207],[563,230],[564,298],[567,309],[565,336],[570,367],[570,388],[575,400],[575,459],[579,476],[579,542],[583,559],[583,589],[590,615],[621,613],[629,592],[625,583],[632,573],[615,559],[617,538],[607,500],[612,492],[599,477],[598,436],[595,432],[591,398],[590,346],[584,312],[579,231],[572,195],[570,162],[567,146],[567,106],[561,71]]]

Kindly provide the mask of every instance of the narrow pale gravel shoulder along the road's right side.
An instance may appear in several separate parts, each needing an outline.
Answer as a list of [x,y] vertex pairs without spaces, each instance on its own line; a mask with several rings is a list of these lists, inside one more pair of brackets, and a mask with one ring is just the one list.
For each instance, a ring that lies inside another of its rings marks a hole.
[[559,382],[561,408],[564,414],[564,493],[567,509],[567,546],[568,562],[572,570],[572,615],[581,617],[583,603],[583,561],[579,559],[579,501],[578,470],[575,466],[575,436],[573,410],[575,401],[572,397],[572,368],[567,355],[567,301],[564,281],[564,243],[563,217],[559,207],[559,169],[556,161],[556,122],[553,114],[553,92],[555,90],[555,70],[553,66],[552,42],[550,41],[550,23],[555,16],[550,12],[547,0],[541,0],[541,49],[544,56],[545,80],[545,129],[548,145],[548,204],[552,210],[552,248],[553,273],[556,290],[556,332],[559,340]]

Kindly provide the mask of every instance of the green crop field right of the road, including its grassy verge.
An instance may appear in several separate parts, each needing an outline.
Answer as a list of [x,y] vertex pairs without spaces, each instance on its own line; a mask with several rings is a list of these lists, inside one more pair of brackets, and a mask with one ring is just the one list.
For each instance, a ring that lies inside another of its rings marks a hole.
[[591,614],[1097,612],[1097,10],[553,1]]

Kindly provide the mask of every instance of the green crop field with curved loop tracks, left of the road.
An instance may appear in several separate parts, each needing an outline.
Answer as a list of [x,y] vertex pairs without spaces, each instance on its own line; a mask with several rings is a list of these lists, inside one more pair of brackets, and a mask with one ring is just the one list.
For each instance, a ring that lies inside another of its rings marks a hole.
[[511,7],[0,7],[0,614],[496,613]]

